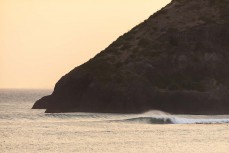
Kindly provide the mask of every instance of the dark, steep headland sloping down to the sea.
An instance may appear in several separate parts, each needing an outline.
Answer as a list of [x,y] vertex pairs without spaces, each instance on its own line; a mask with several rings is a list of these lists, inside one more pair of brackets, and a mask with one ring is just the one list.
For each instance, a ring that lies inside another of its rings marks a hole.
[[63,76],[48,113],[229,114],[229,1],[173,0]]

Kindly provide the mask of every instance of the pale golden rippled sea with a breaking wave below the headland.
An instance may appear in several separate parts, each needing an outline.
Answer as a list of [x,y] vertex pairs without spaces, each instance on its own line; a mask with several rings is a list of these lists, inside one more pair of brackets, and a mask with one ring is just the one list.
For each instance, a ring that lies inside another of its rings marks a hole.
[[174,116],[160,111],[45,114],[44,110],[31,110],[37,99],[49,93],[0,89],[1,153],[229,152],[226,115]]

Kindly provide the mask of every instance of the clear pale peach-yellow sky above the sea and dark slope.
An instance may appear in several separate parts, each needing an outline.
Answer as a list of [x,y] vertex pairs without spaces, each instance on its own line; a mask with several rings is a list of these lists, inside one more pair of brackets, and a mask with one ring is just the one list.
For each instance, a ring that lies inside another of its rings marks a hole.
[[53,89],[171,0],[0,0],[0,88]]

